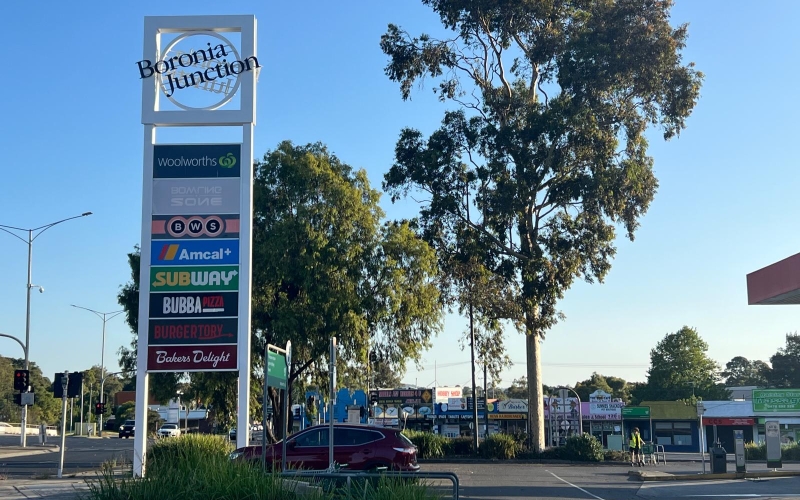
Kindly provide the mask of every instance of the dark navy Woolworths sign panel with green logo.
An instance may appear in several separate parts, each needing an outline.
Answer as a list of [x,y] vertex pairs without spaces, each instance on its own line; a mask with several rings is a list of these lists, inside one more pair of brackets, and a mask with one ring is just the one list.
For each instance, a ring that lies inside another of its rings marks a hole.
[[241,144],[156,144],[153,178],[239,177]]

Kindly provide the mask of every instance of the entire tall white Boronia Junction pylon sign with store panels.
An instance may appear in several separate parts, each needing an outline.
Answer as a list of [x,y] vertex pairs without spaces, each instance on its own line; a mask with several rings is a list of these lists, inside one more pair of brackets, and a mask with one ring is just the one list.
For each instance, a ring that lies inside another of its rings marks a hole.
[[[144,125],[134,445],[143,475],[150,372],[239,372],[237,425],[247,428],[256,19],[145,17],[133,62]],[[161,127],[223,126],[240,128],[241,142],[158,140]]]

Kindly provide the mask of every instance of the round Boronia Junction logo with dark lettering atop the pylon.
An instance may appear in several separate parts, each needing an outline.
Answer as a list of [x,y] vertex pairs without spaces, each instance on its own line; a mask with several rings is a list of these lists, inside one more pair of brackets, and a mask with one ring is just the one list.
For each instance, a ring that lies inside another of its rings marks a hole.
[[256,56],[242,58],[230,40],[213,31],[180,34],[155,61],[136,65],[141,79],[158,78],[161,93],[184,110],[221,108],[239,90],[239,75],[261,68]]

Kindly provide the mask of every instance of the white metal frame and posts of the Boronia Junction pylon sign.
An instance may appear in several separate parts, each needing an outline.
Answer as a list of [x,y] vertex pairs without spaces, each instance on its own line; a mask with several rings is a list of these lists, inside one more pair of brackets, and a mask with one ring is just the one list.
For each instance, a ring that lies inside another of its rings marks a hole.
[[[148,16],[144,18],[144,45],[142,59],[157,60],[161,49],[161,35],[192,31],[214,33],[240,33],[239,53],[257,57],[256,18],[252,15],[232,16]],[[135,66],[135,65],[132,65]],[[132,77],[136,72],[131,72]],[[239,325],[237,338],[238,359],[238,415],[237,428],[249,428],[250,415],[250,311],[252,290],[252,220],[253,220],[253,127],[256,121],[256,81],[258,71],[239,74],[239,109],[162,110],[159,78],[153,75],[142,82],[143,189],[142,237],[139,290],[139,342],[136,377],[136,434],[134,436],[133,473],[144,477],[147,452],[147,402],[149,381],[147,370],[147,325],[150,317],[150,251],[153,207],[153,159],[156,131],[159,127],[241,127],[242,162],[239,200]],[[249,432],[238,432],[237,447],[247,446]]]

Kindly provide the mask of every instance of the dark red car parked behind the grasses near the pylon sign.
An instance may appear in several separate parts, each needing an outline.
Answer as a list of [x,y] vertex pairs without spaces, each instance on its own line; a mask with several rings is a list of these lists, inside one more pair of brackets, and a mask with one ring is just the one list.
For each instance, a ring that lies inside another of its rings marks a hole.
[[[316,425],[289,436],[286,441],[286,466],[290,469],[328,468],[327,425]],[[283,444],[267,445],[267,464],[280,469]],[[261,460],[261,445],[233,451],[232,460]],[[337,424],[333,430],[333,459],[347,470],[368,471],[380,467],[416,472],[417,447],[397,429],[368,425]]]

